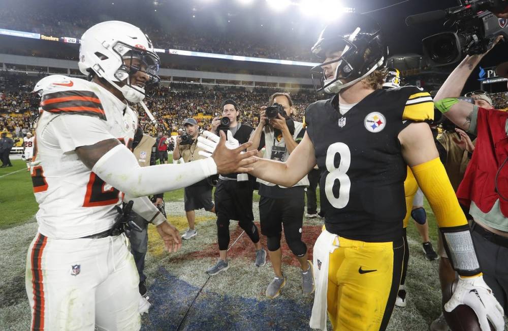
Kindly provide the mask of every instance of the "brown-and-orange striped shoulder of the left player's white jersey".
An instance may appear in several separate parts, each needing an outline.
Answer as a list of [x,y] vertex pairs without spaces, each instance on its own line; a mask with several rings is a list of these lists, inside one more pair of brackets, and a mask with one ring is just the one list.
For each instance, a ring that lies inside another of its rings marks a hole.
[[106,120],[99,96],[90,89],[90,82],[79,78],[54,81],[42,92],[40,107],[54,114],[97,116]]

